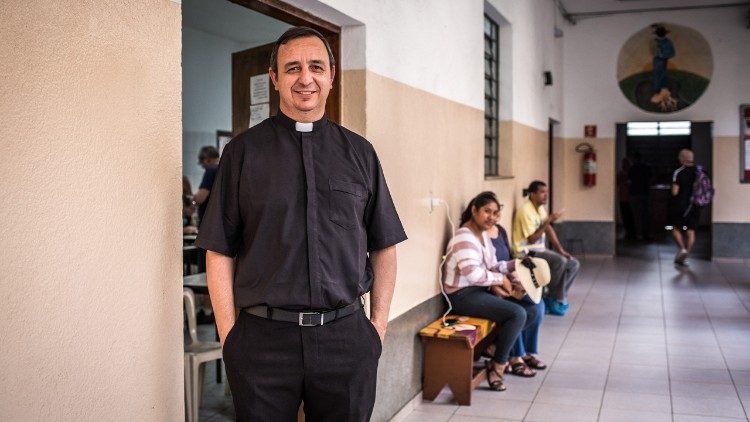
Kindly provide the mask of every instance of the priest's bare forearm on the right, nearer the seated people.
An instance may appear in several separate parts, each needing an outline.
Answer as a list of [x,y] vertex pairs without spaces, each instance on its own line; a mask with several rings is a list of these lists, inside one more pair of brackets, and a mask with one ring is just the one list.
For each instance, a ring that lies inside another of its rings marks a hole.
[[382,340],[388,326],[388,313],[396,287],[396,247],[371,252],[370,261],[374,277],[370,294],[370,320]]

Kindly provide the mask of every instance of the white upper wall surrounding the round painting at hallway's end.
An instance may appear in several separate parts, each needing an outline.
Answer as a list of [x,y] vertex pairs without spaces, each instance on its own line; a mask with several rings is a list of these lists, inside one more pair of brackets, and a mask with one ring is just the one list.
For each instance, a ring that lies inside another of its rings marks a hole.
[[[703,96],[671,114],[647,113],[631,104],[617,84],[622,45],[640,29],[675,23],[697,30],[711,46],[714,72]],[[750,102],[750,30],[747,8],[625,14],[584,19],[564,28],[564,108],[562,136],[583,136],[598,125],[598,136],[613,138],[615,123],[634,120],[712,120],[714,136],[739,134],[739,111]],[[738,141],[739,142],[739,141]]]

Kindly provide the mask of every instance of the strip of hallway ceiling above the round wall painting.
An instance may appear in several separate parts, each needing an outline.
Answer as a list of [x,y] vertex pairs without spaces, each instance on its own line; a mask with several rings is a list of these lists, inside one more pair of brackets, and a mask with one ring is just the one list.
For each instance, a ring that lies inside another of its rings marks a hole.
[[555,0],[573,20],[619,13],[750,6],[740,0]]

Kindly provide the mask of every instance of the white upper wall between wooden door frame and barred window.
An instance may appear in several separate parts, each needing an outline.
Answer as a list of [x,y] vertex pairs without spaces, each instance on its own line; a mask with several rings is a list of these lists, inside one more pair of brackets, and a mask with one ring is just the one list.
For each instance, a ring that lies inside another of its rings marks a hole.
[[[365,25],[366,68],[424,91],[484,108],[482,1],[296,1],[331,14],[339,24]],[[467,28],[476,28],[469,31]],[[349,67],[351,69],[351,67]]]

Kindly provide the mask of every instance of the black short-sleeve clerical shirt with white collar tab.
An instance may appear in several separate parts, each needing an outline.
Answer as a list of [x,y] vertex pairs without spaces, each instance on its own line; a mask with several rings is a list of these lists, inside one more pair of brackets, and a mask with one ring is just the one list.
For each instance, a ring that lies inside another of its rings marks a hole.
[[297,125],[279,112],[219,163],[196,245],[236,258],[238,308],[348,305],[372,287],[367,253],[406,239],[372,145],[325,117]]

